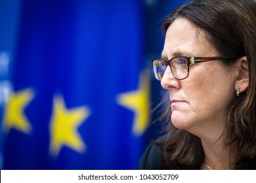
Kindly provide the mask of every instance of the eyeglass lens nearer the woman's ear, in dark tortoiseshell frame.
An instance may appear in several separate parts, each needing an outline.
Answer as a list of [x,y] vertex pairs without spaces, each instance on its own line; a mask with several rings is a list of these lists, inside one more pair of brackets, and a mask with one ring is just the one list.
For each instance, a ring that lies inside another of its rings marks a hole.
[[177,79],[184,79],[188,76],[188,63],[186,58],[173,58],[171,60],[171,71]]

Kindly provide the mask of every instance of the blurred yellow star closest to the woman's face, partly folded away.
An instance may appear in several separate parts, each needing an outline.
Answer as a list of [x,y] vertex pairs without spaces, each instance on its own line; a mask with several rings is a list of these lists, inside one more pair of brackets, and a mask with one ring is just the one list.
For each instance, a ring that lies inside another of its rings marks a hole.
[[142,135],[150,121],[150,78],[148,73],[140,75],[138,90],[121,93],[117,103],[135,112],[133,134]]

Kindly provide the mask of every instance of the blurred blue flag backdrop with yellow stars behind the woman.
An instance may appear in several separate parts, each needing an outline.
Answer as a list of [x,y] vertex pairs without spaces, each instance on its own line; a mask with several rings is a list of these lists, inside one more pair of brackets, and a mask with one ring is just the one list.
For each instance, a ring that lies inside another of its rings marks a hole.
[[0,0],[0,169],[136,169],[182,0]]

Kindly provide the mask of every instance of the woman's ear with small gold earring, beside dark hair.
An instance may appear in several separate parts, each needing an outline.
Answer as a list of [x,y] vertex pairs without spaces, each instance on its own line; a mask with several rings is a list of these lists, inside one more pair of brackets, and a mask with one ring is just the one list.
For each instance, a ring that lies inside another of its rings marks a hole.
[[248,62],[247,57],[238,58],[236,61],[236,66],[238,68],[238,75],[236,77],[235,90],[236,92],[240,88],[240,92],[245,92],[249,86],[249,72],[248,72]]

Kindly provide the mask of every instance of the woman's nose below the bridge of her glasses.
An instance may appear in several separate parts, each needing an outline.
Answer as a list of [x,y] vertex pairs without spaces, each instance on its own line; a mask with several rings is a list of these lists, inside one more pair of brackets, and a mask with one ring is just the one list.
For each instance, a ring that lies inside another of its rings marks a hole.
[[177,80],[171,73],[171,68],[167,66],[163,78],[161,78],[161,87],[165,90],[179,89],[181,88],[180,80]]

